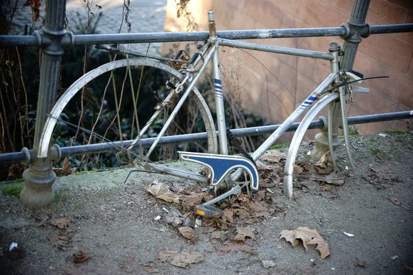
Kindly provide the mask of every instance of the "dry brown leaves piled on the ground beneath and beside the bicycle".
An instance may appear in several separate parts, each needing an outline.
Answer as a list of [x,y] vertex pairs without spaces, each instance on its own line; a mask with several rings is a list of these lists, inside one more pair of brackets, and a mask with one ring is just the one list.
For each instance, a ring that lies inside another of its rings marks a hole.
[[[301,161],[295,166],[295,174],[297,176],[307,171],[318,173],[317,171],[329,169],[326,165],[326,157],[321,159],[317,164],[317,168],[313,168],[310,163]],[[277,150],[266,152],[260,161],[257,162],[257,169],[260,173],[260,191],[255,192],[252,197],[246,194],[232,196],[221,201],[218,206],[224,212],[222,217],[206,218],[199,217],[193,213],[195,206],[213,199],[205,186],[200,188],[198,185],[181,185],[169,186],[165,183],[154,181],[146,187],[147,192],[157,199],[162,199],[168,203],[162,203],[159,200],[153,203],[161,205],[165,211],[163,217],[158,216],[156,221],[165,222],[188,240],[189,243],[196,241],[211,241],[216,250],[219,252],[242,251],[254,254],[256,237],[255,229],[250,225],[257,223],[260,219],[268,219],[273,217],[276,212],[284,212],[282,206],[275,203],[276,196],[281,193],[281,179],[284,172],[284,162],[286,153]],[[327,174],[327,173],[325,173]],[[307,174],[306,174],[307,175]],[[304,177],[301,181],[301,186],[311,190],[312,192],[323,192],[327,188],[321,190],[321,186],[331,186],[343,184],[343,179],[338,177]],[[311,188],[310,182],[314,182],[319,188]],[[284,218],[285,218],[284,212]],[[324,259],[330,254],[328,251],[328,243],[319,235],[316,230],[308,228],[297,228],[296,230],[284,230],[280,233],[281,238],[295,246],[298,239],[301,239],[304,247],[307,249],[308,244],[318,244],[317,250],[321,253],[321,258]],[[178,267],[188,267],[191,263],[199,263],[204,260],[203,256],[198,252],[176,252],[162,251],[159,252],[158,259],[170,263]]]

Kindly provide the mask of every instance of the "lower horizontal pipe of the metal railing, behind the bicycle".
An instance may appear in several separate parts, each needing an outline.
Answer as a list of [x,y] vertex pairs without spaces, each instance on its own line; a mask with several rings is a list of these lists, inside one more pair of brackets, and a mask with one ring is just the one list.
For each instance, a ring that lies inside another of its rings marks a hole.
[[[396,113],[380,113],[377,115],[361,115],[361,116],[354,116],[348,118],[348,124],[363,124],[363,123],[370,123],[370,122],[381,122],[381,121],[388,121],[388,120],[403,120],[403,119],[412,119],[413,118],[413,111],[401,111]],[[299,122],[293,123],[288,129],[287,132],[297,130],[299,126]],[[246,136],[253,136],[253,135],[264,135],[273,133],[279,124],[276,125],[268,125],[268,126],[259,126],[259,127],[249,127],[249,128],[242,128],[242,129],[233,129],[231,133],[233,133],[234,137],[246,137]],[[315,120],[310,123],[308,129],[320,129],[324,127],[324,122],[322,120]],[[152,138],[145,138],[142,139],[142,147],[149,148],[153,141],[155,140],[154,137]],[[180,144],[180,143],[187,143],[187,142],[198,142],[202,140],[207,140],[207,133],[191,133],[187,135],[171,135],[167,137],[162,137],[160,139],[159,145],[165,144]],[[123,142],[123,146],[127,147],[131,144],[132,140],[128,140]],[[99,144],[90,144],[90,145],[78,145],[78,146],[70,146],[70,147],[62,147],[62,157],[72,156],[72,155],[87,155],[87,154],[94,154],[94,153],[105,153],[108,151],[116,151],[120,147],[120,142],[113,142],[111,143],[99,143]],[[24,162],[25,161],[25,154],[22,152],[19,153],[6,153],[0,154],[0,163],[15,163],[15,162]]]

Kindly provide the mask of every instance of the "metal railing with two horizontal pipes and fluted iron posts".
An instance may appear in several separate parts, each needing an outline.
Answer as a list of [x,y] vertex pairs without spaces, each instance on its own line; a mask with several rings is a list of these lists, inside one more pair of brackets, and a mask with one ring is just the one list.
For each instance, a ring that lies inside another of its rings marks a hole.
[[[176,32],[176,33],[147,33],[147,34],[90,34],[74,35],[64,28],[66,0],[47,1],[45,27],[41,32],[36,31],[32,36],[0,36],[0,47],[9,46],[32,46],[41,49],[41,75],[39,87],[39,101],[36,114],[36,129],[34,132],[34,148],[25,149],[22,153],[6,153],[0,155],[0,162],[21,162],[30,164],[30,169],[25,170],[25,188],[21,192],[21,201],[26,206],[41,208],[47,206],[54,199],[52,184],[56,175],[52,172],[50,156],[39,159],[36,152],[39,146],[41,131],[46,120],[47,113],[56,102],[57,88],[59,85],[59,72],[61,66],[61,56],[63,47],[73,47],[75,45],[96,45],[96,44],[120,44],[120,43],[162,43],[177,41],[204,41],[208,37],[208,32]],[[366,14],[370,0],[354,0],[352,13],[348,23],[344,23],[337,28],[307,28],[307,29],[284,29],[284,30],[238,30],[217,32],[222,39],[279,39],[292,37],[315,37],[315,36],[340,36],[344,40],[342,68],[351,69],[357,53],[357,47],[361,38],[366,38],[370,34],[388,34],[392,32],[412,32],[413,24],[403,25],[375,25],[366,23]],[[372,116],[348,118],[349,124],[366,123],[372,121],[398,120],[402,118],[412,118],[412,112],[390,113]],[[321,128],[323,122],[313,122],[311,128]],[[275,126],[254,127],[254,134],[268,133],[274,131]],[[294,124],[290,131],[296,129]],[[265,130],[264,130],[265,129]],[[251,129],[234,130],[233,134],[250,135]],[[182,135],[178,137],[165,137],[163,142],[189,142],[192,139],[202,139],[204,134]],[[169,140],[170,139],[170,140]],[[171,141],[172,140],[172,141]],[[173,141],[175,140],[175,141]],[[151,140],[145,141],[149,144]],[[100,148],[103,146],[104,148]],[[52,153],[65,155],[96,153],[110,151],[113,146],[107,144],[94,144],[76,146],[76,148],[55,148]]]

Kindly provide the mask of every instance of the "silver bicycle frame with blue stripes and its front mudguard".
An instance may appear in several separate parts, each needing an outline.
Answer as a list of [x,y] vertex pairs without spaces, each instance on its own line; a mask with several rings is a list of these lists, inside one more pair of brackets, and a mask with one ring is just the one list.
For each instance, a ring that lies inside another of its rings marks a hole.
[[[277,139],[284,133],[288,127],[297,120],[307,109],[310,107],[315,100],[318,100],[326,91],[330,85],[339,85],[340,79],[339,79],[339,51],[340,47],[336,44],[337,47],[329,47],[329,53],[326,52],[315,52],[315,51],[310,51],[310,50],[301,50],[301,49],[295,49],[295,48],[288,48],[288,47],[279,47],[275,45],[262,45],[262,44],[257,44],[257,43],[248,43],[248,42],[241,42],[241,41],[231,41],[227,39],[220,39],[216,35],[216,30],[215,30],[215,20],[213,17],[213,12],[209,11],[208,14],[209,18],[209,39],[207,40],[207,43],[202,45],[200,51],[198,52],[198,55],[196,56],[195,60],[193,61],[192,64],[190,64],[187,68],[181,69],[181,73],[184,74],[184,79],[177,85],[173,91],[170,92],[170,95],[173,93],[180,93],[182,91],[182,96],[178,103],[176,104],[176,107],[173,109],[171,115],[169,115],[169,118],[167,122],[165,122],[164,126],[162,127],[160,133],[156,137],[156,140],[153,142],[151,147],[149,148],[149,151],[147,152],[147,155],[145,156],[144,160],[138,160],[138,164],[140,166],[144,166],[145,168],[149,170],[156,170],[159,173],[165,173],[168,175],[174,175],[186,179],[192,179],[204,184],[209,183],[208,177],[204,177],[202,175],[198,175],[195,173],[189,173],[187,171],[183,170],[178,170],[174,168],[169,168],[166,166],[161,166],[159,164],[151,164],[148,162],[149,155],[153,152],[154,148],[158,145],[158,142],[160,141],[160,138],[162,135],[165,134],[165,131],[167,128],[171,125],[171,122],[175,118],[176,114],[182,107],[182,104],[184,104],[184,101],[187,99],[189,96],[191,90],[193,87],[195,87],[195,84],[198,82],[200,79],[200,76],[205,72],[205,69],[207,68],[207,65],[209,62],[211,62],[212,65],[212,72],[213,72],[213,83],[214,83],[214,91],[215,91],[215,105],[216,105],[216,112],[217,112],[217,124],[218,124],[218,139],[219,139],[219,144],[220,144],[220,154],[222,155],[228,155],[228,145],[227,145],[227,140],[226,140],[226,124],[225,124],[225,114],[224,114],[224,98],[222,95],[222,79],[221,79],[221,72],[220,72],[220,67],[219,67],[219,52],[218,48],[219,46],[227,46],[227,47],[235,47],[235,48],[241,48],[241,49],[247,49],[247,50],[257,50],[257,51],[262,51],[262,52],[271,52],[275,54],[288,54],[288,55],[293,55],[293,56],[304,56],[304,57],[309,57],[309,58],[318,58],[318,59],[323,59],[326,61],[330,61],[330,74],[326,77],[326,79],[317,87],[311,94],[302,102],[302,104],[295,110],[293,113],[290,114],[290,116],[279,126],[279,128],[270,136],[268,139],[259,147],[257,148],[257,151],[255,151],[252,154],[252,157],[254,160],[257,160],[262,154],[265,153],[268,148],[271,147],[272,144],[274,144]],[[202,65],[200,65],[200,68],[198,70],[195,70],[195,67],[202,61]],[[129,61],[128,61],[129,62]],[[195,76],[193,76],[193,72],[197,72]],[[184,89],[184,85],[186,85]],[[184,89],[184,91],[183,91]],[[340,93],[340,98],[341,100],[343,97],[346,96],[345,91],[343,90],[344,88],[341,87],[339,88],[339,93]],[[306,117],[303,120],[302,125],[307,125],[311,120],[313,120],[314,116],[317,115],[317,113],[323,109],[327,104],[329,104],[332,100],[335,100],[335,98],[338,97],[337,93],[330,93],[330,94],[335,94],[335,96],[325,96],[319,102],[317,102],[316,106],[311,109],[312,111],[309,111]],[[70,97],[72,98],[72,96]],[[68,98],[67,100],[70,100]],[[67,102],[67,101],[66,101]],[[344,103],[345,104],[345,103]],[[345,108],[345,107],[344,107]],[[61,112],[62,110],[60,110]],[[53,113],[53,111],[52,111]],[[149,120],[149,122],[153,122],[156,118],[156,116],[160,112],[156,111],[156,113],[152,116],[152,118]],[[59,110],[57,110],[54,115],[57,115],[59,117],[60,113]],[[41,137],[40,141],[40,146],[39,146],[39,151],[38,151],[38,157],[39,158],[44,158],[47,157],[47,151],[50,146],[50,137],[52,135],[52,130],[54,128],[54,124],[56,124],[57,117],[50,117],[52,120],[51,123],[46,123],[45,124],[45,129],[43,130],[43,135]],[[346,120],[346,117],[343,117],[343,125],[344,125],[344,120]],[[145,131],[149,125],[146,125],[142,131]],[[286,175],[284,179],[284,193],[288,197],[292,197],[292,171],[294,165],[294,159],[295,159],[295,154],[299,145],[299,141],[301,141],[302,135],[304,135],[304,132],[306,131],[307,126],[302,126],[299,129],[297,129],[297,138],[295,138],[294,142],[290,146],[290,151],[288,153],[287,157],[287,163],[286,163]],[[345,131],[345,135],[346,131]],[[136,139],[132,142],[132,145],[128,148],[131,149],[136,144],[138,144],[140,137],[142,136],[142,133],[136,137]],[[298,142],[297,142],[298,141]],[[346,140],[347,141],[347,140]],[[238,169],[233,175],[231,175],[232,180],[236,180],[242,175],[242,169]]]

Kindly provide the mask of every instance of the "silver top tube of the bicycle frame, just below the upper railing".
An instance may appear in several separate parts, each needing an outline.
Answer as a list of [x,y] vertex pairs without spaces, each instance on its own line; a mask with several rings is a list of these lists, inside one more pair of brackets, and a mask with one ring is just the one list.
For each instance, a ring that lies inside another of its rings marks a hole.
[[279,47],[275,45],[262,45],[244,41],[233,41],[229,39],[218,39],[218,43],[220,43],[221,46],[237,47],[240,49],[255,50],[261,52],[273,52],[275,54],[290,54],[293,56],[319,58],[328,61],[332,61],[335,58],[332,54],[328,54],[326,52],[314,52],[290,47]]

